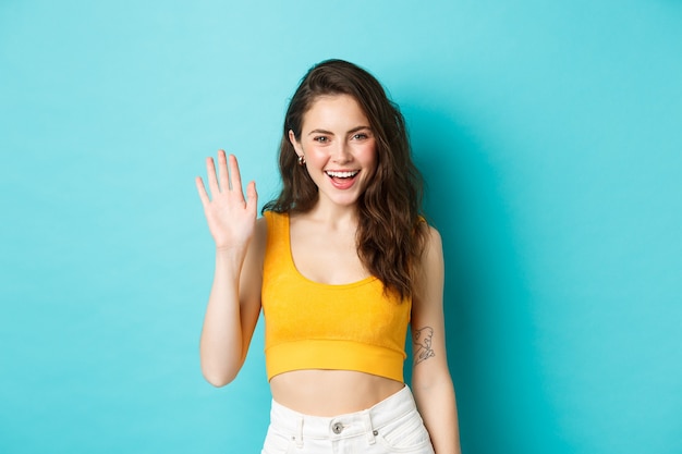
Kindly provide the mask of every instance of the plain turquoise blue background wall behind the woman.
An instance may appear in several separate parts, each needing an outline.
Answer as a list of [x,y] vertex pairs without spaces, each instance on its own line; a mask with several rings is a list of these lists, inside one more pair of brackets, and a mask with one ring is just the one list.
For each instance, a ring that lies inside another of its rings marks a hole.
[[313,63],[410,123],[464,453],[682,452],[682,2],[0,1],[0,452],[249,453],[259,326],[199,371],[193,179],[278,187]]

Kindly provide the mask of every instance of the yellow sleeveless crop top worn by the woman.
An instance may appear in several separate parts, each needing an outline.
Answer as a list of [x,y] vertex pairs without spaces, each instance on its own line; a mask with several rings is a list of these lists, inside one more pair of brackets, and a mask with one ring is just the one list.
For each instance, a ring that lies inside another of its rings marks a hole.
[[377,278],[329,285],[304,278],[291,255],[289,216],[264,213],[263,270],[268,380],[301,369],[356,370],[403,381],[411,300]]

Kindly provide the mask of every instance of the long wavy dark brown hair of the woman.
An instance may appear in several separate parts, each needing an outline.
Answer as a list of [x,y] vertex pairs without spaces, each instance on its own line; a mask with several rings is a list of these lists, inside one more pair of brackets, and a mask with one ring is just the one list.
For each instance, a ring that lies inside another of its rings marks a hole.
[[282,189],[263,211],[307,212],[318,188],[289,140],[301,139],[303,118],[320,96],[349,95],[363,109],[376,139],[377,165],[357,200],[357,254],[385,291],[412,297],[428,228],[422,217],[423,179],[412,160],[405,121],[381,84],[364,69],[343,60],[326,60],[301,81],[287,109],[279,151]]

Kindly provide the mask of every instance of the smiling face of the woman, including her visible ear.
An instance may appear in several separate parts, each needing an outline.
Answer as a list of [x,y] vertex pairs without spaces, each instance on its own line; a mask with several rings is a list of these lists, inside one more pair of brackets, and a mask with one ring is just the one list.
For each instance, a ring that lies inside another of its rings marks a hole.
[[319,203],[354,205],[377,165],[376,140],[357,101],[348,95],[318,97],[303,116],[300,142],[289,139],[305,158],[319,189]]

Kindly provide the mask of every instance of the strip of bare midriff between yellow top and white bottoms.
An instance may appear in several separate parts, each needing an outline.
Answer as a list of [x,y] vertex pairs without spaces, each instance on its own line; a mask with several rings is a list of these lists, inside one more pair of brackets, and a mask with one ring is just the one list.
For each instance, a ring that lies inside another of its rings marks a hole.
[[272,398],[312,416],[361,412],[402,390],[404,383],[352,370],[293,370],[272,377]]

